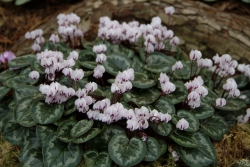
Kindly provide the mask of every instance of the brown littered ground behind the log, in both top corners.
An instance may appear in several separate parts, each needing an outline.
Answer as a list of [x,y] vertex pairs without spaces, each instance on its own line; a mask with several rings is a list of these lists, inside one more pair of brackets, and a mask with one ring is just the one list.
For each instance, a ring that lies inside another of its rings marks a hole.
[[[27,31],[35,29],[51,17],[81,0],[33,0],[22,6],[0,2],[0,53],[9,50]],[[239,0],[207,3],[218,10],[250,17],[250,4]]]

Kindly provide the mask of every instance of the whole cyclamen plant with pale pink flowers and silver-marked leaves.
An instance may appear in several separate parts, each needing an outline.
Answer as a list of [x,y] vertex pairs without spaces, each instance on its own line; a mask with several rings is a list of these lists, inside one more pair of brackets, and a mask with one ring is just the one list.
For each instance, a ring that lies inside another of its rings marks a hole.
[[98,38],[84,44],[78,16],[57,18],[65,42],[28,32],[37,53],[4,59],[15,69],[0,73],[1,133],[20,146],[20,167],[72,167],[82,157],[86,166],[134,166],[166,156],[168,144],[175,161],[217,166],[211,140],[249,120],[249,65],[183,56],[159,17],[101,17]]

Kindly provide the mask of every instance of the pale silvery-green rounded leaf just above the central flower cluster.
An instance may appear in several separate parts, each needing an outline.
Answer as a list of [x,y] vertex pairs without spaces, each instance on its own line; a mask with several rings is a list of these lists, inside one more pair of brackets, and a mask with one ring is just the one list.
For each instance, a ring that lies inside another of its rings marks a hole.
[[131,65],[131,60],[119,53],[112,53],[107,56],[107,60],[103,63],[105,71],[116,76],[119,71],[127,70]]

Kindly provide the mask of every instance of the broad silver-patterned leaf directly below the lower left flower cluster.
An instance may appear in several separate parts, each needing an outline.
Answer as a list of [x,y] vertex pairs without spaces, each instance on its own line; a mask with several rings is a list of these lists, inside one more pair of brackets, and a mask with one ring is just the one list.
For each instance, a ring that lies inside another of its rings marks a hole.
[[50,124],[56,122],[63,115],[63,104],[46,104],[34,101],[31,106],[31,116],[36,123]]

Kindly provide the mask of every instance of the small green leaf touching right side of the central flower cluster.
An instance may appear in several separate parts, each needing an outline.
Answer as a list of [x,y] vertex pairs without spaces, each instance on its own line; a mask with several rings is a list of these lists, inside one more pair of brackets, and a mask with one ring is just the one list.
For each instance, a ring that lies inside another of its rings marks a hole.
[[144,73],[135,72],[135,78],[132,81],[133,87],[147,89],[156,84],[156,82],[152,79],[148,79],[148,76]]

